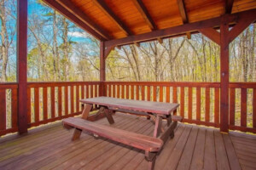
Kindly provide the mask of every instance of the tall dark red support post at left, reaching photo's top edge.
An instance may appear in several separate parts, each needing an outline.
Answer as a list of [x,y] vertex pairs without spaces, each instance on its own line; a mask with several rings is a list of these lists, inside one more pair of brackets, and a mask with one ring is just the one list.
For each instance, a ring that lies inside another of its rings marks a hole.
[[17,20],[17,82],[18,82],[18,130],[27,132],[27,0],[18,0]]

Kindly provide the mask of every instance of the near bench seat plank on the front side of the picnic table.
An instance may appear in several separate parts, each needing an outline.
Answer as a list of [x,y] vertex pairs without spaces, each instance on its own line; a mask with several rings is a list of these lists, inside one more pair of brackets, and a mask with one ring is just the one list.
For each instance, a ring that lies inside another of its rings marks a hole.
[[122,144],[131,145],[140,150],[157,152],[164,142],[161,139],[138,133],[131,133],[115,127],[108,127],[96,122],[89,122],[79,117],[69,117],[63,120],[64,127],[76,127],[89,133],[95,133],[106,139],[111,139]]

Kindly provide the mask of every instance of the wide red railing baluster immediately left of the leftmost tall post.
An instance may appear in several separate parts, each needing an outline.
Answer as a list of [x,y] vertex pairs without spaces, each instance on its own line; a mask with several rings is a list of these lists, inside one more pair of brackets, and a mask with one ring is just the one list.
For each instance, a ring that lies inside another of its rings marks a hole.
[[[27,95],[28,100],[31,102],[30,95]],[[17,100],[17,89],[14,88],[12,89],[12,96],[11,96],[11,106],[12,106],[12,110],[11,110],[11,114],[12,114],[12,127],[18,127],[18,110],[17,110],[17,106],[18,106],[18,100]],[[28,102],[28,101],[27,101]],[[27,107],[28,108],[28,107]],[[28,116],[27,116],[28,117]]]

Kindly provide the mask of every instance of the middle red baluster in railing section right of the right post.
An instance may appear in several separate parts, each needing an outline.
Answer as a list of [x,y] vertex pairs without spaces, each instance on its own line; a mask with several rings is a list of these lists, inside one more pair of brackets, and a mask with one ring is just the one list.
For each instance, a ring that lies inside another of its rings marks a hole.
[[247,88],[241,88],[241,127],[247,127]]

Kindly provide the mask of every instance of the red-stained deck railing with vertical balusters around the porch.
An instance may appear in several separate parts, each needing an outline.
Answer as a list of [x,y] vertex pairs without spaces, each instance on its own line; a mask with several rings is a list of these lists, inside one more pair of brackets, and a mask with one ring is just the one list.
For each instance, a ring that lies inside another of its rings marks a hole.
[[[79,115],[79,99],[99,96],[101,82],[28,82],[28,127]],[[219,127],[219,82],[103,82],[105,95],[175,102],[183,122]],[[17,132],[17,83],[0,83],[0,136]],[[94,106],[94,109],[97,109]],[[230,82],[230,129],[256,133],[256,83]]]

